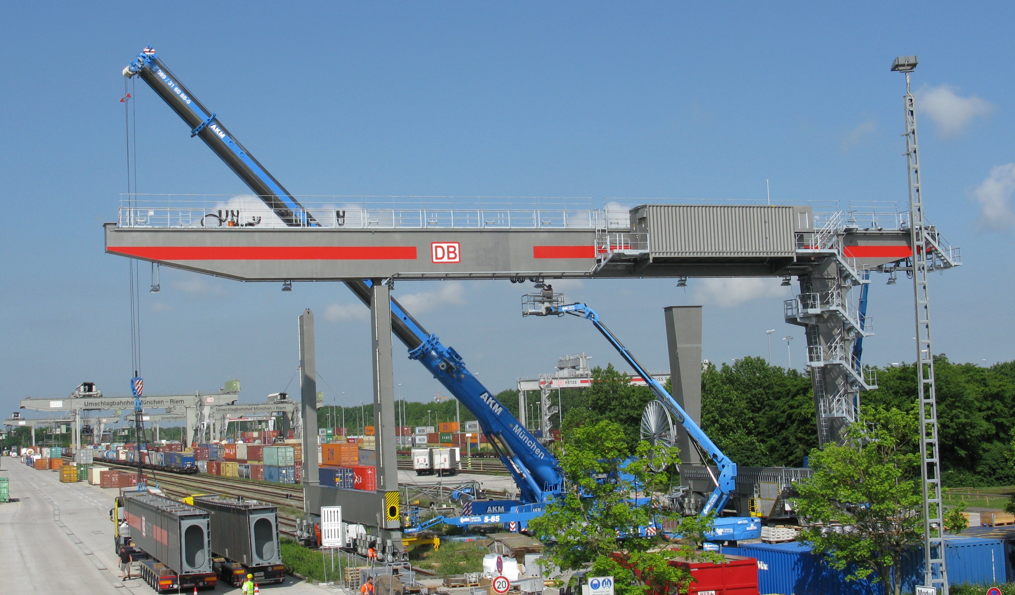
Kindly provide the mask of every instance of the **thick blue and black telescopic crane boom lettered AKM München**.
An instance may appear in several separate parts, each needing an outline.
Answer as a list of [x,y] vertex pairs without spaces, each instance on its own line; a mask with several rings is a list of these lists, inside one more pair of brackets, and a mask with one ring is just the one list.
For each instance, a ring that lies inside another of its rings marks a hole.
[[[151,47],[123,71],[139,75],[184,122],[290,227],[315,227],[307,209],[232,137],[159,61]],[[370,303],[370,282],[345,285],[364,304]],[[465,367],[462,357],[430,334],[397,300],[391,300],[392,331],[418,360],[479,421],[479,426],[504,466],[511,471],[524,504],[546,502],[561,490],[562,472],[556,458]]]

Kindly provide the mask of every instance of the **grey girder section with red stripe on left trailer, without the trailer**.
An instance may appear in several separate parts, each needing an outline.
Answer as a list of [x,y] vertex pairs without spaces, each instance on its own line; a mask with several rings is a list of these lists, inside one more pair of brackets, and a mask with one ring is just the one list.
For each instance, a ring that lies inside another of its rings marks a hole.
[[152,494],[126,495],[134,543],[177,574],[210,573],[210,515]]

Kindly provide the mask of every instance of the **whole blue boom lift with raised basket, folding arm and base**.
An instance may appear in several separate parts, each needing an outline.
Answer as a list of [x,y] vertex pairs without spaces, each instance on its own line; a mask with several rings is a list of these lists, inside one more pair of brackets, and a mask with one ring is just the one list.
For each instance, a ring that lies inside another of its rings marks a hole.
[[[537,285],[537,287],[539,287]],[[656,399],[662,403],[666,411],[681,424],[688,436],[708,455],[708,458],[719,469],[719,477],[713,477],[716,489],[705,501],[701,508],[700,515],[707,516],[716,512],[715,529],[709,537],[715,540],[739,540],[752,539],[761,536],[760,519],[754,517],[721,517],[723,509],[730,500],[730,495],[737,488],[737,464],[730,460],[730,457],[723,454],[723,451],[716,446],[716,443],[708,438],[697,424],[694,423],[680,403],[677,402],[666,388],[656,380],[652,374],[646,370],[630,351],[624,347],[620,340],[616,338],[609,328],[599,319],[599,314],[595,310],[583,303],[564,304],[563,294],[553,293],[550,286],[539,287],[539,293],[528,294],[523,298],[523,316],[563,316],[570,314],[590,320],[593,325],[606,338],[606,341],[613,346],[620,356],[627,362],[634,372],[645,378],[649,389],[652,390]],[[707,468],[707,467],[706,467]],[[712,472],[710,470],[708,471]]]

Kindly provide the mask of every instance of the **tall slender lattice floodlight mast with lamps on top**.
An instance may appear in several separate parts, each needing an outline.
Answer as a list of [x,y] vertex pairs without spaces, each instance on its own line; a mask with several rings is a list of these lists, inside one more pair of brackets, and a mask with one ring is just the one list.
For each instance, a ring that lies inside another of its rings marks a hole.
[[[941,502],[941,451],[938,445],[938,405],[934,384],[934,351],[931,349],[930,293],[927,281],[931,262],[924,221],[924,195],[920,177],[917,144],[917,109],[909,88],[909,73],[917,68],[916,56],[900,56],[892,62],[892,72],[905,74],[905,155],[909,183],[909,232],[912,240],[912,290],[917,315],[917,398],[920,403],[920,456],[924,496],[924,585],[940,585],[948,595],[945,568],[944,510]],[[934,577],[935,569],[938,577]]]

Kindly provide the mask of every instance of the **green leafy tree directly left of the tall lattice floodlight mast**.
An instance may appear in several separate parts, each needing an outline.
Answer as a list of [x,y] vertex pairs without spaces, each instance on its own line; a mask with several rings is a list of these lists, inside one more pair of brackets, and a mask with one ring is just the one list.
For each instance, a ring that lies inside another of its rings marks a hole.
[[[797,482],[799,539],[847,571],[899,595],[905,549],[923,534],[918,420],[911,412],[868,407],[841,445],[811,451],[813,474]],[[842,532],[827,530],[829,524]]]

